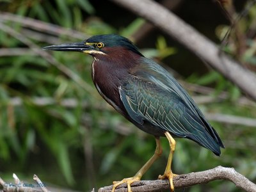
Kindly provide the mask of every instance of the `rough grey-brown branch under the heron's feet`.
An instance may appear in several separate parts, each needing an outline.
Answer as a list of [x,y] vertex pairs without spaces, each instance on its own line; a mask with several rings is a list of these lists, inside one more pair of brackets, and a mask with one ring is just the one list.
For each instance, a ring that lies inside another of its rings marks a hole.
[[[212,180],[230,180],[233,182],[237,188],[244,189],[244,191],[256,191],[256,184],[253,184],[246,177],[236,172],[234,168],[225,168],[223,166],[217,166],[211,170],[206,170],[204,172],[195,172],[188,173],[184,175],[177,175],[177,177],[173,178],[173,184],[175,189],[179,188],[188,188],[190,186],[194,186],[196,184],[206,184]],[[169,189],[168,180],[141,180],[139,182],[134,182],[131,185],[132,191],[161,191],[164,189]],[[104,188],[100,188],[98,192],[110,192],[112,186],[107,186]],[[127,191],[126,184],[120,185],[116,188],[115,192],[123,192]]]

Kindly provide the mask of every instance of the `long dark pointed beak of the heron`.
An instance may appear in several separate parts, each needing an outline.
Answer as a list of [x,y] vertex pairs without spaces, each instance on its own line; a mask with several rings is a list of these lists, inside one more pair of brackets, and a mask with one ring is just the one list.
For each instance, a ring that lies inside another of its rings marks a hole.
[[94,50],[92,45],[87,45],[85,42],[77,42],[77,43],[70,43],[70,44],[61,44],[61,45],[50,45],[47,47],[43,47],[43,49],[48,49],[52,51],[78,51],[84,52],[86,50]]

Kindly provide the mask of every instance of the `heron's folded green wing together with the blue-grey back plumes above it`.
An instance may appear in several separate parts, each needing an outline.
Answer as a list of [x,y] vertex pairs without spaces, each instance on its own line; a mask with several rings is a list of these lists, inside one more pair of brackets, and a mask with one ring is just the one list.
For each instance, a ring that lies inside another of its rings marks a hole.
[[120,86],[121,100],[129,116],[138,124],[150,122],[175,136],[196,141],[219,155],[223,144],[195,102],[173,77],[168,76],[172,82],[166,85],[161,81],[166,81],[166,77],[157,75],[159,70],[147,66],[133,72]]

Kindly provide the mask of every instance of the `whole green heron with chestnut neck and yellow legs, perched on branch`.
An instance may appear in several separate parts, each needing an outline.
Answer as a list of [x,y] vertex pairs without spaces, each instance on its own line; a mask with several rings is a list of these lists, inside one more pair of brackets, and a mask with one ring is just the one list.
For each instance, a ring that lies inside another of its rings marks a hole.
[[83,42],[44,47],[53,51],[78,51],[90,54],[92,79],[100,95],[119,113],[142,131],[156,138],[156,151],[134,175],[113,182],[116,186],[141,179],[148,168],[161,156],[160,136],[170,143],[170,154],[163,175],[174,191],[171,164],[175,151],[175,138],[188,138],[220,156],[224,145],[218,133],[186,90],[155,61],[145,58],[132,42],[119,35],[96,35]]

